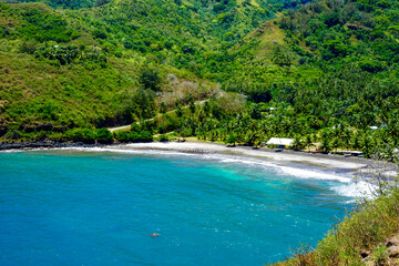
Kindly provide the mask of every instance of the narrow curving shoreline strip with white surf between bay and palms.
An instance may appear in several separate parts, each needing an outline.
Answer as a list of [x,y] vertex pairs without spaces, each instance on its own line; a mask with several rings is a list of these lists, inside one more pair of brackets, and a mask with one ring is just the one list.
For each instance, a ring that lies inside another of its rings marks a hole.
[[[227,146],[222,143],[209,142],[145,142],[145,143],[112,143],[112,144],[85,144],[71,142],[31,142],[31,143],[0,143],[1,151],[30,151],[40,149],[78,149],[78,147],[100,147],[123,150],[152,150],[152,151],[170,151],[188,154],[221,154],[233,155],[246,158],[294,163],[303,166],[319,167],[325,170],[334,170],[339,173],[366,174],[369,175],[370,170],[376,170],[377,162],[370,158],[344,157],[338,155],[328,155],[321,153],[307,153],[291,150],[277,149],[256,149],[252,146]],[[378,168],[378,167],[377,167]],[[393,172],[388,173],[395,176]]]

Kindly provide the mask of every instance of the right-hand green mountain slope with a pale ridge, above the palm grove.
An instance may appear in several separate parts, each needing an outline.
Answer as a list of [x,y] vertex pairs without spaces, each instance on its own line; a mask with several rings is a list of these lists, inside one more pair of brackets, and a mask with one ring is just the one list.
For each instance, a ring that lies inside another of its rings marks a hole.
[[357,129],[382,124],[393,132],[399,93],[395,4],[367,9],[360,1],[321,1],[288,11],[231,49],[224,89],[255,102],[286,102],[297,119],[311,115],[324,125]]

